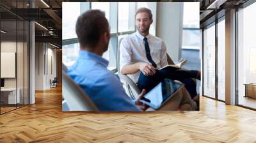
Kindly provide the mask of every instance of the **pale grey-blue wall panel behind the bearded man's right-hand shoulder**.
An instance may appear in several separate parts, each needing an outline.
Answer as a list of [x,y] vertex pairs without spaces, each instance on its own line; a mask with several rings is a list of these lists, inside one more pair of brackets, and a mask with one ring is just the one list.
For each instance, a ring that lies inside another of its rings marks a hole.
[[161,38],[173,61],[179,61],[182,47],[183,3],[157,3],[156,36]]

